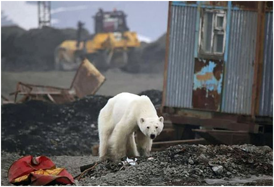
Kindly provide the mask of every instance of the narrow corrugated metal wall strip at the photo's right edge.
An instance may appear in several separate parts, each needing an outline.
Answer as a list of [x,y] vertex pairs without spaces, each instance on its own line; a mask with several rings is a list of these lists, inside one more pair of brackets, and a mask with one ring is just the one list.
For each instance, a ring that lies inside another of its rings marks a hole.
[[262,116],[273,116],[273,12],[266,13],[264,68],[259,111]]

